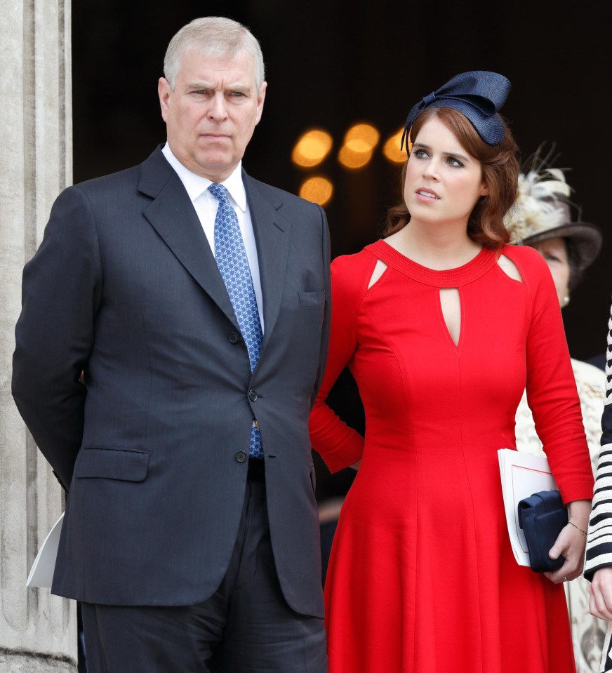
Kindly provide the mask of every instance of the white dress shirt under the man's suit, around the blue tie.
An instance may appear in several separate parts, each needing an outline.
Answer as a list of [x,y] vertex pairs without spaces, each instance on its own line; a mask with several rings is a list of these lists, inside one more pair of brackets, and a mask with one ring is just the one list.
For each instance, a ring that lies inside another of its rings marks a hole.
[[[170,145],[166,145],[161,149],[164,156],[168,160],[168,164],[174,168],[180,181],[187,190],[189,199],[194,205],[197,216],[208,239],[208,244],[211,246],[213,255],[215,254],[215,215],[219,201],[214,194],[208,192],[208,187],[212,180],[202,178],[201,175],[196,175],[185,168],[180,161],[174,156]],[[246,201],[246,189],[244,189],[244,182],[242,182],[242,162],[234,168],[232,175],[227,180],[220,183],[227,189],[230,204],[236,211],[238,217],[238,224],[246,248],[246,258],[248,259],[248,266],[251,269],[251,278],[253,279],[253,290],[255,291],[255,300],[257,300],[257,309],[259,312],[259,320],[261,323],[261,331],[263,334],[263,298],[261,293],[261,280],[259,275],[259,260],[257,256],[257,246],[255,245],[255,233],[253,232],[253,222],[251,221],[251,212],[248,210],[248,203]]]

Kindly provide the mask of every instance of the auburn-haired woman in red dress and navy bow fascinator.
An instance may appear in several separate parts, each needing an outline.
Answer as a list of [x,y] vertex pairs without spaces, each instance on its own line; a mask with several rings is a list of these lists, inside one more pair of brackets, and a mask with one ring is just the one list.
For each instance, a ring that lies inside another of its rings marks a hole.
[[[415,105],[404,203],[384,240],[333,262],[311,439],[332,471],[360,467],[326,581],[330,673],[575,670],[561,582],[581,571],[592,474],[550,272],[505,246],[509,88],[464,73]],[[346,365],[365,438],[325,404]],[[571,521],[545,576],[514,561],[500,487],[525,384]]]

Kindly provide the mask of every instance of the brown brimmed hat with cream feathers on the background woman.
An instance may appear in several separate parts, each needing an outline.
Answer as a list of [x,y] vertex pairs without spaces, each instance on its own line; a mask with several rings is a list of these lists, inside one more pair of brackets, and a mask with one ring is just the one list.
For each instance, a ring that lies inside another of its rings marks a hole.
[[510,233],[510,242],[517,245],[531,246],[554,238],[570,239],[576,246],[581,273],[599,255],[603,237],[596,225],[571,220],[572,189],[564,171],[548,163],[551,153],[541,159],[538,151],[528,161],[530,168],[519,175],[517,201],[507,212],[504,224]]

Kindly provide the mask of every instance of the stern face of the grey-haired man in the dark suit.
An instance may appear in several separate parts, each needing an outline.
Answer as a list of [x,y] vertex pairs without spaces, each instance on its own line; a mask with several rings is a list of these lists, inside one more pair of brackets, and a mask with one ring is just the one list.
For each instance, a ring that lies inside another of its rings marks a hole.
[[265,89],[263,82],[257,90],[255,67],[246,53],[232,58],[185,53],[174,91],[165,77],[158,86],[174,156],[213,182],[228,178],[261,119]]

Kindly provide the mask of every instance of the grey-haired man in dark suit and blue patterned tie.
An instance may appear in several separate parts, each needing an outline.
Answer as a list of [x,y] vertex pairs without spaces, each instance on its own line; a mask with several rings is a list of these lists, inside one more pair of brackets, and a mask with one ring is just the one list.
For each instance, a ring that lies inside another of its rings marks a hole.
[[89,673],[323,673],[326,218],[241,168],[245,27],[194,20],[164,74],[166,145],[60,194],[25,267],[13,395],[69,491],[53,592],[82,601]]

